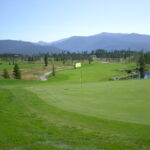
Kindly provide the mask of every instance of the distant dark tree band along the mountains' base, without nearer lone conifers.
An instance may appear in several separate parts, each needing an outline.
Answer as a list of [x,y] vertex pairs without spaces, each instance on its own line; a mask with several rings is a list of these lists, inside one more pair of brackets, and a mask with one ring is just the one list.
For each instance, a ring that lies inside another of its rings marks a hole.
[[[90,60],[92,56],[96,58],[111,58],[111,59],[127,59],[133,58],[134,61],[138,59],[141,51],[133,51],[133,50],[114,50],[114,51],[106,51],[104,49],[97,49],[91,52],[69,52],[62,51],[57,54],[38,54],[38,55],[18,55],[18,54],[0,54],[0,63],[3,61],[8,62],[10,65],[17,63],[17,61],[26,61],[28,63],[33,63],[36,61],[44,62],[53,59],[54,61],[61,61],[63,64],[66,61],[76,61],[76,60]],[[47,57],[47,58],[46,58]],[[146,63],[150,64],[150,52],[144,53],[144,59]]]

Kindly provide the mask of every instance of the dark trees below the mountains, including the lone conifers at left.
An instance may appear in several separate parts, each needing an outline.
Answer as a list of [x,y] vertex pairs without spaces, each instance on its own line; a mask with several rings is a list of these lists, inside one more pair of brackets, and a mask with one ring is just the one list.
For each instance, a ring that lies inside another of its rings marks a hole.
[[[68,52],[63,51],[58,54],[39,54],[39,55],[18,55],[18,54],[0,54],[0,64],[3,61],[8,62],[9,65],[14,65],[13,68],[13,77],[14,79],[21,79],[21,71],[17,64],[18,61],[35,63],[36,61],[41,61],[43,64],[48,66],[49,62],[52,65],[52,74],[55,76],[55,63],[56,61],[61,61],[62,64],[65,64],[68,60],[72,61],[83,61],[86,60],[89,64],[93,61],[94,58],[106,58],[106,59],[128,59],[132,58],[133,62],[136,62],[139,66],[139,70],[143,71],[146,64],[150,64],[150,52],[144,53],[143,51],[131,51],[131,50],[114,50],[106,51],[103,49],[97,49],[91,52]],[[10,78],[10,75],[6,69],[3,70],[3,77]]]

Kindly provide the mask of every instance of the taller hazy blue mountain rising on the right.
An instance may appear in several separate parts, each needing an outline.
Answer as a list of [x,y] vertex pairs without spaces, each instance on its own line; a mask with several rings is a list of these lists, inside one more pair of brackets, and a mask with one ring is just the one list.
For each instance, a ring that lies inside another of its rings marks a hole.
[[92,36],[73,36],[64,40],[47,43],[69,51],[106,50],[144,50],[150,51],[150,35],[101,33]]

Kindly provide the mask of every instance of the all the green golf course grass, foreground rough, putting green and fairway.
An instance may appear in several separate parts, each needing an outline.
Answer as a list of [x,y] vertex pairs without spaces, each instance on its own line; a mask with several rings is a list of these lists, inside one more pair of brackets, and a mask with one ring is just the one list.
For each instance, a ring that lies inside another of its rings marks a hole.
[[111,80],[133,68],[93,62],[47,81],[0,79],[0,150],[150,150],[150,79]]

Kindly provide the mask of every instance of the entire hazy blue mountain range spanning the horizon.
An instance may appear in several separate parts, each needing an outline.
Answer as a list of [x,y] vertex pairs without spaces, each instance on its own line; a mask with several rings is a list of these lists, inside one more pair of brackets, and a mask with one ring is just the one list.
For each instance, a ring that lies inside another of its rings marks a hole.
[[39,54],[91,51],[96,49],[111,50],[143,50],[150,51],[150,35],[100,33],[92,36],[72,36],[54,42],[24,42],[16,40],[0,40],[0,54]]

